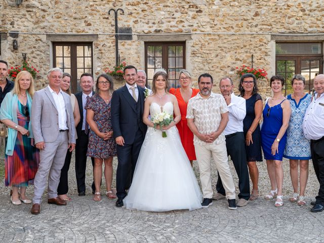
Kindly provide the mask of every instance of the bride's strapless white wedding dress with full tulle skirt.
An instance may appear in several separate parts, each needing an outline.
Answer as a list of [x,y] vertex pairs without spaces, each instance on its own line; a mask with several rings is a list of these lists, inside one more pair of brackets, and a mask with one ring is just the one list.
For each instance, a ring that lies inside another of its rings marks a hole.
[[[173,114],[172,102],[163,107],[150,106],[150,114],[164,111]],[[147,129],[133,177],[124,199],[127,209],[170,211],[201,208],[202,195],[178,129],[173,126],[163,138],[160,130]]]

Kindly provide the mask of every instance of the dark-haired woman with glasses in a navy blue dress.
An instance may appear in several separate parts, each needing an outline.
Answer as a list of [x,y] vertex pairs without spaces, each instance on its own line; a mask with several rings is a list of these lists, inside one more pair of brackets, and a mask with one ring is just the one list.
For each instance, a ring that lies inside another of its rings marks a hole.
[[258,94],[257,79],[252,73],[241,76],[238,90],[240,96],[246,99],[247,115],[243,120],[243,132],[246,141],[246,153],[249,174],[252,181],[250,200],[259,196],[259,170],[256,161],[262,161],[260,119],[262,116],[262,98]]

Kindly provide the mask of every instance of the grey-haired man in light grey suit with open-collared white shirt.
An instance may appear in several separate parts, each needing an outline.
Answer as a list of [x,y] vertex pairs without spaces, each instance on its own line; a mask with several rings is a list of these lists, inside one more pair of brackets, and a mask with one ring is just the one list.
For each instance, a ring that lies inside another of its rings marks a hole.
[[42,195],[48,177],[48,203],[66,205],[57,196],[66,148],[75,147],[74,118],[70,96],[60,88],[62,70],[48,72],[49,86],[35,92],[31,108],[34,143],[39,149],[39,167],[34,179],[32,214],[41,212]]

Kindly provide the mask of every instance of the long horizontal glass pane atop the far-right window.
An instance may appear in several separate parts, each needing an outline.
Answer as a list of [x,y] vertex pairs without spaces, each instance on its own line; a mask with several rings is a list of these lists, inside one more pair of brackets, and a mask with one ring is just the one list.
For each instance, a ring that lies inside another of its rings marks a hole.
[[321,54],[320,43],[276,43],[276,54]]

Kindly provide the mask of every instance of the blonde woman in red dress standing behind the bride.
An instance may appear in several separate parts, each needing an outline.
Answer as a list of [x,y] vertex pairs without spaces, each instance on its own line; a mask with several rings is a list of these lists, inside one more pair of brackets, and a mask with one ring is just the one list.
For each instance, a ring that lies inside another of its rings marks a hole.
[[196,160],[196,154],[194,152],[193,146],[193,134],[187,125],[186,115],[188,101],[190,98],[194,97],[199,92],[199,89],[191,88],[191,75],[186,69],[180,71],[179,83],[180,88],[171,88],[169,92],[175,95],[178,100],[181,113],[181,120],[177,124],[177,128],[179,130],[182,146],[186,151],[186,154],[192,166],[192,160]]

